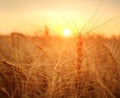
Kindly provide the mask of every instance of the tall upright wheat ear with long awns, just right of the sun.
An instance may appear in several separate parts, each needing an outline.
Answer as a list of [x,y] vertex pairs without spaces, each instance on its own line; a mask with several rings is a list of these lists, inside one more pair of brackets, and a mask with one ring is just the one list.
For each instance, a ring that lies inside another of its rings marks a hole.
[[[99,7],[98,7],[98,9],[99,9]],[[80,96],[80,79],[81,79],[81,77],[80,77],[80,75],[81,75],[81,66],[82,66],[82,61],[83,61],[83,55],[84,55],[84,53],[83,53],[83,42],[84,42],[84,40],[83,40],[83,34],[85,33],[85,36],[87,36],[90,32],[92,32],[93,30],[95,30],[95,29],[97,29],[97,28],[99,28],[100,26],[103,26],[103,25],[105,25],[105,24],[107,24],[107,23],[109,23],[109,22],[111,22],[111,21],[113,21],[114,19],[117,19],[117,18],[119,18],[120,16],[118,16],[118,17],[114,17],[114,18],[112,18],[112,19],[109,19],[109,20],[107,20],[107,21],[105,21],[105,22],[103,22],[102,24],[100,24],[100,25],[97,25],[97,26],[93,26],[90,30],[87,30],[87,31],[85,31],[85,28],[87,28],[87,26],[89,26],[89,22],[91,22],[93,19],[94,19],[94,17],[95,17],[95,15],[96,15],[96,13],[97,13],[97,11],[98,11],[98,9],[95,11],[95,13],[93,14],[93,16],[91,17],[91,19],[85,24],[85,26],[81,29],[81,31],[80,32],[78,32],[78,35],[77,35],[77,64],[76,64],[76,77],[77,77],[77,86],[76,86],[76,89],[77,89],[77,95],[78,96]],[[102,44],[101,44],[102,45]],[[106,48],[105,46],[103,47],[103,48]],[[107,49],[108,50],[108,49]],[[108,50],[109,51],[109,50]],[[111,57],[112,57],[112,55],[111,55]],[[117,63],[113,60],[113,63],[116,65]],[[118,75],[119,76],[119,75]]]

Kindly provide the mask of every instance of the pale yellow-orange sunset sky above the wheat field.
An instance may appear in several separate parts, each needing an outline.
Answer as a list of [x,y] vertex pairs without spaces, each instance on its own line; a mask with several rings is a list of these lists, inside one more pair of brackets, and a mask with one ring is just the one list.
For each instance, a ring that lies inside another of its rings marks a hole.
[[[84,30],[87,32],[120,16],[119,5],[120,0],[0,0],[0,34],[15,31],[41,34],[45,26],[48,26],[51,35],[62,35],[65,29],[74,34],[88,23]],[[89,21],[93,15],[92,21]],[[120,18],[92,32],[119,34]]]

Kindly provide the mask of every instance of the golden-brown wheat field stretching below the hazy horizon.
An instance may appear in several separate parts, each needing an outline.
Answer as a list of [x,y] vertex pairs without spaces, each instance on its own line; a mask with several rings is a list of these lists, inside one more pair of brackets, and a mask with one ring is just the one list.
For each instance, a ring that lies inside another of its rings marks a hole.
[[120,98],[120,37],[0,36],[0,98]]

